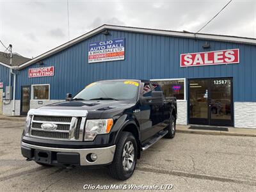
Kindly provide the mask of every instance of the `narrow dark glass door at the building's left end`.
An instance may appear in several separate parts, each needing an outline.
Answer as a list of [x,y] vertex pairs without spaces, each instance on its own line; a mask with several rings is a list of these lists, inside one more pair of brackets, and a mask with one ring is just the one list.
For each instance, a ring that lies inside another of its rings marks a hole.
[[30,104],[30,86],[21,86],[20,115],[27,115]]

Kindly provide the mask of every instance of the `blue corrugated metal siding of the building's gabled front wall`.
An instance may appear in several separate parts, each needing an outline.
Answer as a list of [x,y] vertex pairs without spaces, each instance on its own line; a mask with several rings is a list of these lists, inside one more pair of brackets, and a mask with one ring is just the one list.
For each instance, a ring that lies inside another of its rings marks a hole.
[[[234,101],[256,102],[256,46],[228,42],[207,41],[210,49],[203,49],[205,40],[145,35],[124,31],[110,31],[110,36],[95,35],[64,51],[43,60],[42,66],[31,65],[19,71],[17,98],[20,86],[51,84],[51,99],[65,99],[65,94],[78,92],[86,84],[101,79],[161,79],[234,77]],[[88,64],[88,43],[125,37],[125,60]],[[180,68],[180,54],[187,52],[240,49],[240,63],[205,67]],[[28,69],[55,67],[54,77],[28,78]]]

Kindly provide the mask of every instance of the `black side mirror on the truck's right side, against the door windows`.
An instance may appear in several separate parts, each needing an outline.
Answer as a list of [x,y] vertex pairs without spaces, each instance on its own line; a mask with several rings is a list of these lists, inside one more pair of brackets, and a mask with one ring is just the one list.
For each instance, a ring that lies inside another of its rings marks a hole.
[[163,92],[161,91],[152,92],[152,97],[141,97],[140,100],[141,100],[141,104],[163,106],[164,104]]

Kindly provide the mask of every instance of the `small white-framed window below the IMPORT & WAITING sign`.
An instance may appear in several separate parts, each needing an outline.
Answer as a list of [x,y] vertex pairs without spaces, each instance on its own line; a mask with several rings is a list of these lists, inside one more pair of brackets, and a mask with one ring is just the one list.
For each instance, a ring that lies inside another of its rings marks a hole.
[[32,98],[34,100],[49,99],[49,84],[32,85]]

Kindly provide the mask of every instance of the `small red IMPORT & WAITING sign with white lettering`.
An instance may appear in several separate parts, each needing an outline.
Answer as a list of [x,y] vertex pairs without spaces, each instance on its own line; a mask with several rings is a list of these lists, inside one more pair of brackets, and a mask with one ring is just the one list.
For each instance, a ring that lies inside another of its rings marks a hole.
[[29,68],[28,77],[54,76],[54,67]]

